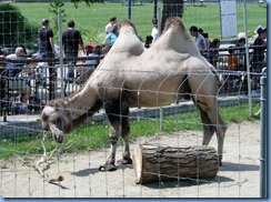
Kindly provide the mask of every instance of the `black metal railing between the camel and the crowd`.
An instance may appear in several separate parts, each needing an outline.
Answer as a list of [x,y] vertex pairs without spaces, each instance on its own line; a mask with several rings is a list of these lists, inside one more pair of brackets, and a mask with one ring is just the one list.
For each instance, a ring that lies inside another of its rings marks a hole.
[[[228,49],[221,49],[220,51],[227,52]],[[228,69],[228,55],[227,53],[218,54],[217,57],[217,70],[222,78],[222,83],[219,87],[220,95],[247,95],[248,94],[248,81],[247,81],[247,70],[245,65],[238,65],[237,71]],[[241,58],[241,53],[237,53]],[[87,81],[90,74],[94,71],[94,67],[83,64],[83,61],[96,59],[100,60],[103,55],[99,58],[91,57],[79,57],[79,58],[63,58],[63,64],[60,65],[58,58],[51,59],[27,59],[24,61],[2,61],[0,67],[0,80],[1,80],[1,105],[0,105],[0,115],[11,115],[19,113],[18,110],[14,110],[14,94],[20,93],[18,89],[11,89],[7,85],[9,80],[6,69],[6,64],[9,62],[20,62],[24,65],[21,67],[23,70],[19,77],[28,81],[29,87],[31,88],[31,95],[29,99],[29,110],[22,111],[21,113],[39,113],[42,105],[48,101],[53,99],[60,99],[71,93],[78,91],[81,85]],[[70,61],[76,61],[73,68],[74,78],[73,80],[67,80],[66,75],[68,74]],[[53,63],[52,67],[48,65]],[[53,71],[50,71],[53,70]],[[54,72],[54,73],[52,73]],[[253,72],[251,72],[253,74]],[[260,74],[257,74],[260,78]],[[249,83],[251,84],[251,83]],[[20,101],[18,101],[20,102]],[[6,120],[6,119],[3,119]]]

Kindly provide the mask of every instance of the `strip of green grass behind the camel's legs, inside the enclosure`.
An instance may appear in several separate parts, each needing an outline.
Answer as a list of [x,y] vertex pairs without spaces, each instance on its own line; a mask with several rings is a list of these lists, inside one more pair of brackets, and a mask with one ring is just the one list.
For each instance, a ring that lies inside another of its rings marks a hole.
[[[253,103],[253,111],[260,109],[259,103]],[[248,103],[220,108],[221,114],[227,123],[240,123],[242,121],[259,120],[259,117],[250,117]],[[169,115],[163,121],[163,133],[177,131],[198,130],[201,131],[201,121],[198,111]],[[139,137],[152,137],[160,132],[159,119],[145,118],[141,121],[131,121],[131,141]],[[83,153],[88,150],[108,148],[109,124],[83,124],[67,137],[64,144],[59,144],[61,153]],[[40,156],[43,153],[41,140],[46,134],[47,151],[53,150],[58,144],[48,132],[34,132],[30,134],[13,135],[0,139],[0,159],[13,156]]]

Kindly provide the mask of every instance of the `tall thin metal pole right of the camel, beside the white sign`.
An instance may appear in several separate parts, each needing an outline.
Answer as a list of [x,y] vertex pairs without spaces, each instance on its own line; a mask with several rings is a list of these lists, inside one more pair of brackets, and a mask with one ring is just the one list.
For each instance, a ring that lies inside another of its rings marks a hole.
[[252,99],[251,99],[251,84],[250,84],[250,58],[249,58],[249,41],[248,41],[248,20],[247,20],[247,3],[243,3],[243,19],[244,19],[244,32],[245,32],[245,59],[247,59],[247,79],[248,79],[248,97],[249,97],[249,110],[250,117],[252,117]]

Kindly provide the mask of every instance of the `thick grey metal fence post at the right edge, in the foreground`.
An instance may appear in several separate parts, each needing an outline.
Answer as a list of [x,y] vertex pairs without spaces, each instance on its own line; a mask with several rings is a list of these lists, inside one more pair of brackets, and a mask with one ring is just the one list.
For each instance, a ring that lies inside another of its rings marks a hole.
[[261,77],[261,152],[260,152],[260,195],[267,198],[267,152],[268,152],[268,88],[267,88],[267,68],[262,70]]

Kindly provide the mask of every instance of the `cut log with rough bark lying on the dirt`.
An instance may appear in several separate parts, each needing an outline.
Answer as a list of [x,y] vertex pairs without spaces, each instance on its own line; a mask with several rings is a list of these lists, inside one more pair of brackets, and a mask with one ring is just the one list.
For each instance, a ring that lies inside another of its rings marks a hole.
[[171,148],[139,144],[133,152],[136,182],[213,179],[219,169],[212,147]]

